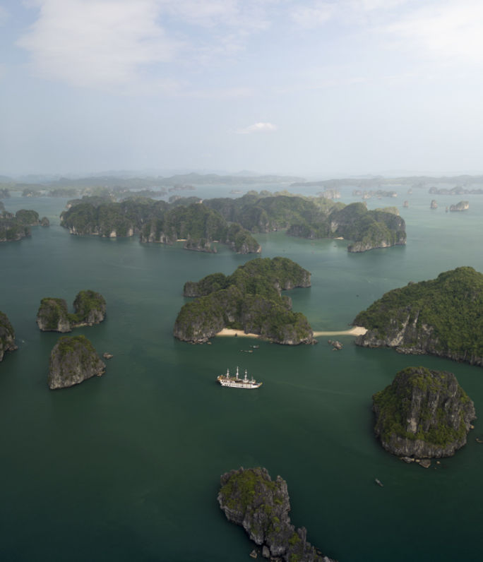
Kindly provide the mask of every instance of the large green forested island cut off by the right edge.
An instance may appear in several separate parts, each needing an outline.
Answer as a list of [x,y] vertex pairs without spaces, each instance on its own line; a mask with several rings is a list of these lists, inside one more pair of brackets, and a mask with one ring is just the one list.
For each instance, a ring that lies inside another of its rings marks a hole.
[[368,330],[355,342],[483,366],[482,314],[482,273],[456,268],[384,294],[354,319]]

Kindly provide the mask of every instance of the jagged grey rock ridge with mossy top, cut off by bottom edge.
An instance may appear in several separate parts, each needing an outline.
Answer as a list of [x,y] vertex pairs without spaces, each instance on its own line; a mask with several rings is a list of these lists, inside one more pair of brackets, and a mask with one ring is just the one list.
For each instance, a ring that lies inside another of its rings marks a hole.
[[287,562],[331,562],[306,540],[306,529],[290,522],[287,482],[272,481],[265,468],[241,467],[220,478],[217,500],[227,520],[241,525],[263,556]]

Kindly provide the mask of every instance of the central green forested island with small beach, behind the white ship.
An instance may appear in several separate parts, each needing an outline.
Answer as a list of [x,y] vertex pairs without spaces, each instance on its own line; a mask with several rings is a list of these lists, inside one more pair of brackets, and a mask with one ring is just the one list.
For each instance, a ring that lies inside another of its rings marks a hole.
[[310,273],[288,258],[257,258],[240,265],[232,275],[213,273],[186,282],[184,304],[173,334],[185,342],[206,342],[223,328],[244,330],[276,343],[315,343],[306,317],[292,312],[282,290],[310,287]]

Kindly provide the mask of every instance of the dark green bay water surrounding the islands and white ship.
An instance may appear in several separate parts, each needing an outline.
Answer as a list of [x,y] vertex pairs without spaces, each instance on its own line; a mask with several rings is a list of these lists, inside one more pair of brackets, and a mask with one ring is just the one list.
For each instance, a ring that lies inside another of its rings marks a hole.
[[[290,292],[294,310],[316,330],[343,330],[409,280],[459,265],[483,272],[483,196],[465,198],[467,213],[444,213],[429,210],[427,193],[414,196],[401,209],[405,247],[352,255],[345,241],[257,238],[263,256],[311,271],[312,287]],[[261,343],[253,354],[240,352],[252,342],[241,338],[177,342],[184,282],[231,273],[249,257],[71,237],[56,220],[65,201],[4,200],[56,225],[0,245],[0,310],[19,345],[0,364],[1,560],[246,561],[251,542],[216,502],[220,474],[241,465],[282,475],[292,522],[340,562],[482,559],[481,422],[454,458],[423,470],[378,445],[371,413],[374,392],[422,364],[453,371],[483,416],[482,369],[361,349],[351,337],[340,337],[341,352],[326,338],[294,348]],[[108,316],[76,333],[114,359],[102,378],[52,392],[49,353],[59,335],[40,333],[35,315],[42,297],[71,303],[80,289],[101,292]],[[237,365],[263,386],[220,388],[217,374]]]

